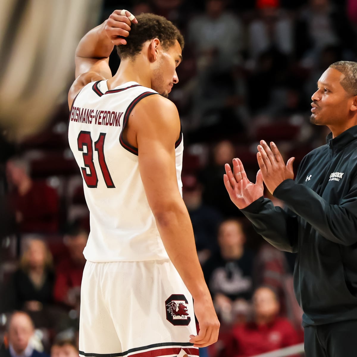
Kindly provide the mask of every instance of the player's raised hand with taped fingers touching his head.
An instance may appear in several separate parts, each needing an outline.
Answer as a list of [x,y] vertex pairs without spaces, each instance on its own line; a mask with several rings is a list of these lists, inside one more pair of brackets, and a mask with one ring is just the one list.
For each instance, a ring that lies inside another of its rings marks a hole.
[[126,39],[122,37],[129,36],[131,24],[137,24],[134,15],[127,10],[115,10],[106,21],[105,33],[114,45],[126,45]]

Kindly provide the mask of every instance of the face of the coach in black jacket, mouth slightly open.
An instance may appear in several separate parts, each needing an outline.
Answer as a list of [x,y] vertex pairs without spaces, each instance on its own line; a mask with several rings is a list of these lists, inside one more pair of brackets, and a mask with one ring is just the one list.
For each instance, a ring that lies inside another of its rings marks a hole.
[[312,95],[310,121],[316,125],[342,126],[351,116],[354,96],[347,93],[341,81],[345,75],[334,68],[323,72]]

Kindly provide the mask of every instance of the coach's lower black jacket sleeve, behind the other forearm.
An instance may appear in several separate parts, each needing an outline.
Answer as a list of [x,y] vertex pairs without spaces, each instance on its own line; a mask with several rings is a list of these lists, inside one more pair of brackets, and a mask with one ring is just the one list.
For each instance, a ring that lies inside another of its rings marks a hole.
[[241,210],[254,229],[279,250],[297,252],[297,218],[290,210],[275,207],[272,201],[260,197]]

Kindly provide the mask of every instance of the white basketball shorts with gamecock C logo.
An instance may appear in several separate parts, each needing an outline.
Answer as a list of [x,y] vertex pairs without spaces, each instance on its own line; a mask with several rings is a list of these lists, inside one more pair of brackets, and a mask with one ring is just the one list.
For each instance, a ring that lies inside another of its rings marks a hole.
[[192,296],[170,260],[93,263],[82,278],[81,357],[198,356]]

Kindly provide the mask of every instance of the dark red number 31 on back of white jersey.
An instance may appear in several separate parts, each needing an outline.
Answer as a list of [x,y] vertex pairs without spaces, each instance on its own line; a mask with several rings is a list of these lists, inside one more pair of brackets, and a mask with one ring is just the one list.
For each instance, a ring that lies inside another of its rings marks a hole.
[[[98,152],[99,167],[100,170],[102,171],[105,184],[107,185],[108,188],[115,188],[107,164],[105,162],[104,140],[105,140],[105,133],[100,133],[98,140],[94,143],[94,150]],[[83,161],[85,167],[81,167],[81,169],[82,169],[82,175],[84,181],[86,182],[88,187],[96,188],[98,185],[98,176],[93,162],[93,142],[90,132],[82,130],[78,135],[77,142],[78,142],[78,150],[83,151]],[[87,152],[84,152],[83,149],[84,146],[87,147]],[[86,167],[88,167],[89,169],[89,174],[87,173]]]

